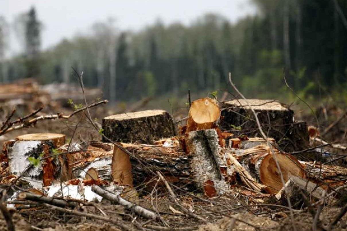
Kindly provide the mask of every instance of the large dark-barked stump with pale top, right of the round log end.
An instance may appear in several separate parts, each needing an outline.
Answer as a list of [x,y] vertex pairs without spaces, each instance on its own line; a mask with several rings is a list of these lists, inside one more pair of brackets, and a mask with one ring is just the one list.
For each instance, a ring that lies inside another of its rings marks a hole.
[[235,99],[225,102],[221,112],[221,129],[246,134],[248,137],[261,137],[248,105],[257,113],[262,129],[269,131],[268,137],[274,138],[281,148],[291,152],[308,147],[306,123],[294,122],[293,110],[277,100]]

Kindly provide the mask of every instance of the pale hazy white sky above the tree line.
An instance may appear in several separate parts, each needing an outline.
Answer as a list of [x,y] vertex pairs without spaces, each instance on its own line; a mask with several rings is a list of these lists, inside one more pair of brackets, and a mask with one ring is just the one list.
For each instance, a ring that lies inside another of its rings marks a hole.
[[[86,32],[93,23],[116,19],[121,29],[139,30],[161,18],[164,24],[180,21],[186,25],[204,13],[219,13],[232,22],[255,7],[250,0],[0,0],[0,16],[9,23],[35,6],[43,23],[42,48],[48,48],[62,38]],[[18,52],[19,42],[13,30],[10,53]]]

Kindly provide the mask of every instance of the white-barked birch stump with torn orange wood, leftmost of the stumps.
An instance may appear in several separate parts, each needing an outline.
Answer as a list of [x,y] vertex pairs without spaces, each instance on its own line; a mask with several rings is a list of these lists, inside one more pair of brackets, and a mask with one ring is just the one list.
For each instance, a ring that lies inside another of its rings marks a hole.
[[71,179],[69,154],[53,155],[52,149],[65,143],[64,134],[33,133],[16,137],[7,152],[9,170],[19,176],[30,165],[24,174],[25,179],[34,187],[51,185],[53,181]]

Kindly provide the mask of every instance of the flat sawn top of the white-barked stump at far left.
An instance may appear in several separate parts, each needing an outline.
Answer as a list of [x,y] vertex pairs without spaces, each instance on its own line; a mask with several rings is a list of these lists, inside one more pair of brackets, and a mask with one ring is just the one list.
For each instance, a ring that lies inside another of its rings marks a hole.
[[65,135],[58,133],[32,133],[16,137],[16,140],[41,140],[50,141],[53,143],[54,148],[59,148],[65,144]]

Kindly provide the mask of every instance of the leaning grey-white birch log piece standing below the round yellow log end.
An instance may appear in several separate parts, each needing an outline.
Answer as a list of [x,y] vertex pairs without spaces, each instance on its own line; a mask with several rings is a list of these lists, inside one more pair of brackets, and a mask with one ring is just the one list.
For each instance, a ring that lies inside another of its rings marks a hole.
[[207,196],[222,195],[229,191],[221,168],[225,169],[225,159],[221,154],[218,134],[215,129],[188,133],[187,147],[192,154],[191,169],[198,188]]

